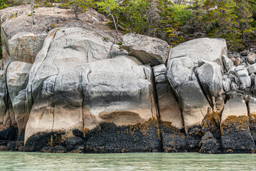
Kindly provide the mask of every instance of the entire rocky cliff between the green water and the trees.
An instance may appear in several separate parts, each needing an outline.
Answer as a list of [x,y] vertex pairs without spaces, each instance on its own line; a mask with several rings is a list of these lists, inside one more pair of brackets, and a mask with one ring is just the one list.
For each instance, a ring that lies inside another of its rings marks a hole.
[[[90,9],[0,11],[0,150],[254,153],[256,47],[171,48]],[[16,13],[12,18],[11,14]],[[84,15],[84,16],[82,16]]]

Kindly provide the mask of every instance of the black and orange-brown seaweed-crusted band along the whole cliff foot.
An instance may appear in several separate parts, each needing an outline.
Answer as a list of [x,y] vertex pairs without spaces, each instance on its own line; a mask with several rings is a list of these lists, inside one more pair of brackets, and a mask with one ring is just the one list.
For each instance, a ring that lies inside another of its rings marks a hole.
[[256,140],[256,115],[230,116],[220,125],[218,113],[208,113],[202,125],[188,129],[172,127],[171,123],[148,120],[137,125],[117,126],[101,123],[82,133],[73,130],[74,137],[64,132],[36,133],[24,146],[24,132],[15,128],[0,132],[0,151],[55,153],[110,152],[200,152],[253,153]]

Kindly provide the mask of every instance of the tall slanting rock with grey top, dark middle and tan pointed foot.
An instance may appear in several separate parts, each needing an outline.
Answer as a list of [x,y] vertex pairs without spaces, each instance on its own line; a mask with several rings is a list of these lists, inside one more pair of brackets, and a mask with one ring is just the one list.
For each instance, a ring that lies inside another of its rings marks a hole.
[[200,125],[210,107],[197,81],[194,67],[192,59],[187,57],[173,58],[167,63],[167,77],[182,108],[186,131]]

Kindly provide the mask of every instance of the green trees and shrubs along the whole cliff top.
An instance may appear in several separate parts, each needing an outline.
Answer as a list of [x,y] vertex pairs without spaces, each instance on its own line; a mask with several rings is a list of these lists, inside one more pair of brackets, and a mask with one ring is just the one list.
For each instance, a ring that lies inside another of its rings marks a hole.
[[[1,0],[0,9],[24,4]],[[109,27],[161,38],[176,46],[193,38],[225,38],[231,51],[250,47],[256,31],[256,0],[35,0],[35,6],[61,7],[86,12],[94,8],[109,16]]]

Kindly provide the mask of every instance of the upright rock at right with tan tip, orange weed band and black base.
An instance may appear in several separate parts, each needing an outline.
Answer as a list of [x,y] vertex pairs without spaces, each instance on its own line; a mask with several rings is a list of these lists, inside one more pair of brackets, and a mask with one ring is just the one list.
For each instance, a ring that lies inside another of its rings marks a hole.
[[255,142],[249,128],[249,117],[242,94],[227,101],[222,112],[222,148],[225,153],[255,152]]

